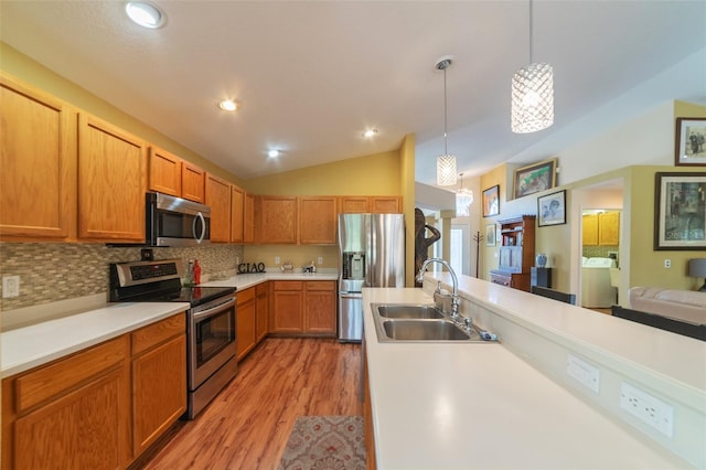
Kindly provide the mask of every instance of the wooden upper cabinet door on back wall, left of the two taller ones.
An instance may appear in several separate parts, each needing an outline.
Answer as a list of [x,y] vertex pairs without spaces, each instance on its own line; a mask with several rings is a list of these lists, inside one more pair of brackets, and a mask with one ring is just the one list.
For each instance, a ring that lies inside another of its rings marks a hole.
[[297,243],[297,197],[258,196],[256,205],[259,243]]

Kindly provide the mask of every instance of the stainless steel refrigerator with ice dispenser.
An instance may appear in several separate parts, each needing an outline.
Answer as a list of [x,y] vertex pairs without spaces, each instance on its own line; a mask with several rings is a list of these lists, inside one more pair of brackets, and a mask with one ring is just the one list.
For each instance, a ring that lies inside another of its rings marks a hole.
[[405,216],[339,214],[339,341],[363,339],[363,287],[405,286]]

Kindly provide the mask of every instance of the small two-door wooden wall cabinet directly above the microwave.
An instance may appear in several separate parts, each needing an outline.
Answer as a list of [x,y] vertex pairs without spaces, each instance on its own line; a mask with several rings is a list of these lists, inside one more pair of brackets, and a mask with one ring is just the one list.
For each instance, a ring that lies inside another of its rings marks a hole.
[[205,172],[159,147],[150,147],[148,188],[150,191],[204,203]]

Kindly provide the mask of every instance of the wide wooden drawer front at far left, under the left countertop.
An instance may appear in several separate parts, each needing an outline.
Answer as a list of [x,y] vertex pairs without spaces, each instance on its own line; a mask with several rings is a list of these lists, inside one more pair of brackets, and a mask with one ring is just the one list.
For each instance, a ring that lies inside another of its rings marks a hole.
[[127,359],[127,337],[120,337],[18,377],[18,413],[121,363]]

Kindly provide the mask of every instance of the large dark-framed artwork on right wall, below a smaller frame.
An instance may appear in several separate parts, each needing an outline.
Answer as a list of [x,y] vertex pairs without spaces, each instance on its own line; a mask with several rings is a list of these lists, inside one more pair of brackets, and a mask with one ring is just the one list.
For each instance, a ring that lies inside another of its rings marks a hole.
[[654,249],[706,249],[706,172],[655,173]]

